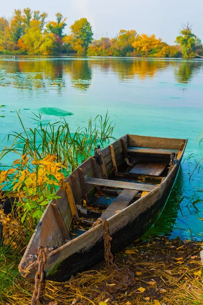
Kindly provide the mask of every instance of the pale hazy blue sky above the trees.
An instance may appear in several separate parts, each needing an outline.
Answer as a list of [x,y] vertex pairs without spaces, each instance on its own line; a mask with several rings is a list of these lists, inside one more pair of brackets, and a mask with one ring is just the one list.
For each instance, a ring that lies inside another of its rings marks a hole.
[[94,38],[115,37],[120,29],[136,29],[139,34],[155,34],[174,44],[181,25],[189,21],[192,32],[203,41],[203,1],[196,0],[0,0],[1,15],[11,17],[14,9],[26,7],[67,17],[65,32],[75,20],[85,17],[92,25]]

